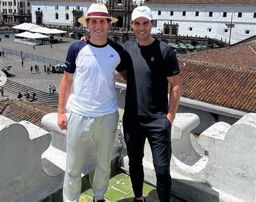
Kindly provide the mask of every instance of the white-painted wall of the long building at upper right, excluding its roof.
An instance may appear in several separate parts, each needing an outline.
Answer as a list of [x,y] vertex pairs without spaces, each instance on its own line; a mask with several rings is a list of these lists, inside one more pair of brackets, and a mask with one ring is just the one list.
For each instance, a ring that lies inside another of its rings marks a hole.
[[[231,22],[233,10],[233,24],[235,27],[231,32],[231,43],[236,43],[242,39],[254,36],[256,34],[256,18],[253,14],[256,5],[175,5],[175,4],[144,4],[150,7],[153,13],[153,19],[158,20],[157,27],[153,27],[152,33],[163,30],[164,23],[170,22],[179,24],[179,32],[181,36],[209,36],[210,38],[225,38],[228,42],[230,32],[224,32],[227,29],[225,23]],[[158,15],[161,11],[161,15]],[[173,16],[170,12],[173,11]],[[183,16],[186,11],[186,16]],[[196,17],[196,11],[199,16]],[[209,17],[209,12],[213,12]],[[223,17],[223,12],[227,12],[227,17]],[[238,12],[242,12],[242,17],[238,18]],[[193,27],[189,31],[189,27]],[[208,32],[208,28],[212,31]],[[246,34],[245,30],[250,30],[250,34]]]

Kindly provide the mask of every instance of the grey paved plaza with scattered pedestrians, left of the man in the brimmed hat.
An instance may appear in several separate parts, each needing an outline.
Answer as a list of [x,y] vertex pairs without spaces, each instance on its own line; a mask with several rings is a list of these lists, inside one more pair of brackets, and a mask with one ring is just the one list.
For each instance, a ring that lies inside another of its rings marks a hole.
[[[36,46],[36,49],[33,50],[32,46],[16,43],[14,41],[14,38],[11,37],[11,35],[10,38],[3,38],[4,35],[0,34],[0,37],[2,37],[2,41],[0,42],[0,51],[2,51],[2,48],[4,47],[17,51],[22,50],[23,52],[41,55],[43,57],[48,57],[57,60],[65,60],[68,48],[71,45],[71,43],[73,43],[73,39],[62,38],[64,42],[59,44],[53,44],[52,48],[50,45],[42,45]],[[69,41],[65,42],[65,40]],[[23,64],[24,67],[22,67],[21,62],[21,57],[5,53],[5,57],[0,57],[0,68],[3,68],[4,66],[12,66],[10,73],[13,76],[8,77],[8,79],[12,81],[21,83],[25,86],[31,86],[32,88],[42,90],[43,92],[48,92],[49,85],[55,85],[58,93],[60,80],[62,79],[63,74],[44,73],[44,65],[48,66],[49,64],[44,64],[42,62],[37,62],[35,60],[26,59],[26,61],[24,61]],[[39,65],[40,73],[31,74],[31,65]],[[9,96],[10,99],[17,99],[17,95],[8,93],[6,92],[6,90],[4,94]]]

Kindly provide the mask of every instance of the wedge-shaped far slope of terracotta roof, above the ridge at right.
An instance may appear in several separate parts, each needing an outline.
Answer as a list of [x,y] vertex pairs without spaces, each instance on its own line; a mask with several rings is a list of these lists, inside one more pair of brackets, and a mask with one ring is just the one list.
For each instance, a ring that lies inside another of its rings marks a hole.
[[244,68],[256,68],[256,44],[242,44],[225,48],[181,54],[180,59],[191,59]]

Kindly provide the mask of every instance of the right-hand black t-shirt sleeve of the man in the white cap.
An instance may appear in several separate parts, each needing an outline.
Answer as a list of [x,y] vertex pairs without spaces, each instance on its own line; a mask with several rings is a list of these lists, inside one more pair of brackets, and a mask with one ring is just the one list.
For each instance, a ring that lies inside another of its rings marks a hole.
[[179,62],[172,48],[169,48],[165,55],[164,73],[166,76],[174,76],[180,73]]

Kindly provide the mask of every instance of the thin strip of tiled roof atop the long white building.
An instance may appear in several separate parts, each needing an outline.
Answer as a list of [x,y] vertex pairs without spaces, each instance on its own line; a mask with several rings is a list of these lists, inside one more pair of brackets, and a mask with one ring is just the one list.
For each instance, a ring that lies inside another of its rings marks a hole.
[[149,0],[146,4],[251,4],[255,5],[254,0]]

